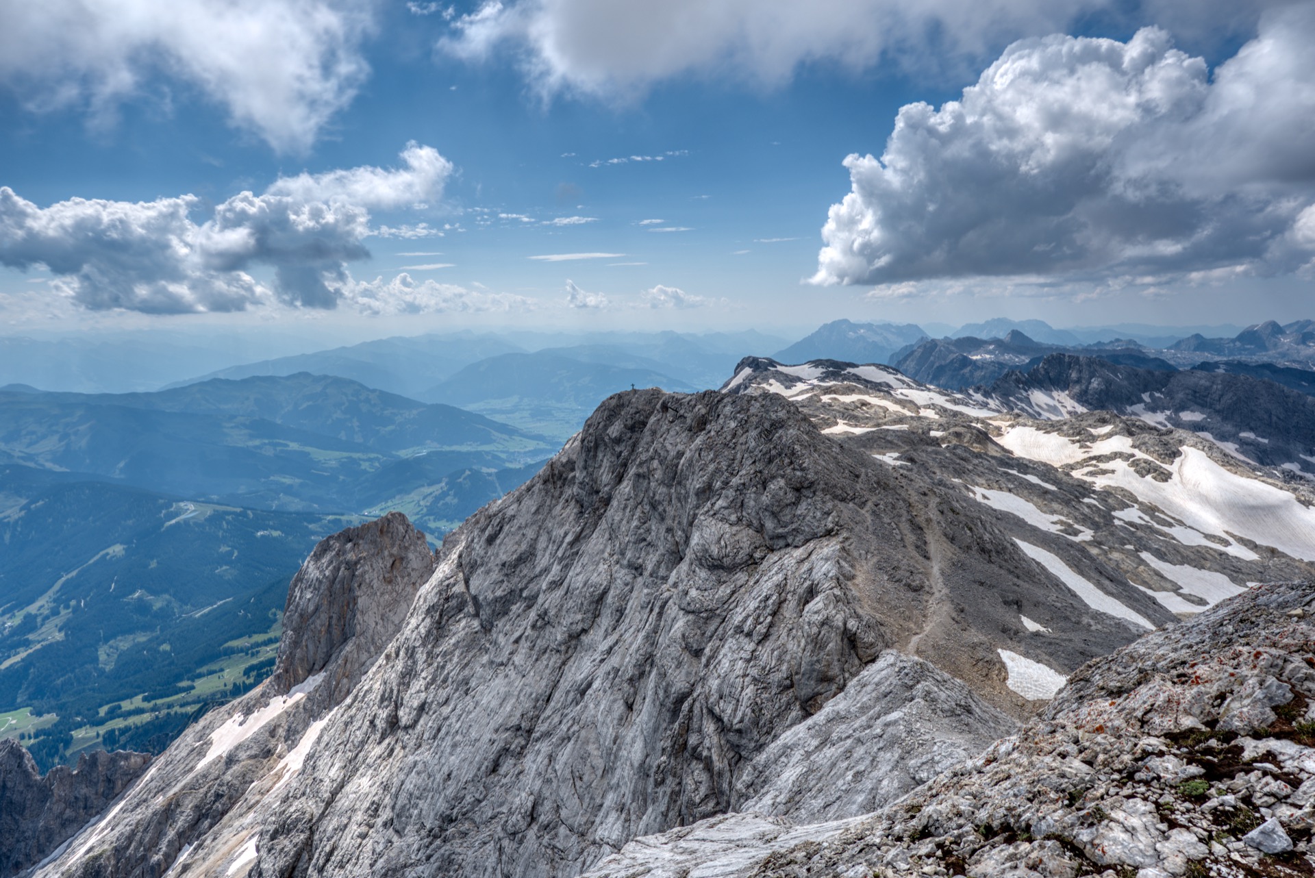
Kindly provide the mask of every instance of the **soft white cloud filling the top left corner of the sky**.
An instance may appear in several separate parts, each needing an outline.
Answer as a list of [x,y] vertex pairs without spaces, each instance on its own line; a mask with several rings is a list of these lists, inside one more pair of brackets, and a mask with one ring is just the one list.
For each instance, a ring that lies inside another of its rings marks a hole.
[[305,150],[368,74],[370,4],[348,0],[42,0],[0,12],[0,84],[29,109],[101,121],[154,74],[185,80],[234,125]]

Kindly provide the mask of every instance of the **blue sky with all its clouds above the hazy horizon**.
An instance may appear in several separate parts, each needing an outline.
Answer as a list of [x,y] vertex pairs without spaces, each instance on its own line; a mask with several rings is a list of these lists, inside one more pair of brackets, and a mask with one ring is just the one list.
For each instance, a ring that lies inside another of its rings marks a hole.
[[0,7],[0,334],[1315,314],[1315,3]]

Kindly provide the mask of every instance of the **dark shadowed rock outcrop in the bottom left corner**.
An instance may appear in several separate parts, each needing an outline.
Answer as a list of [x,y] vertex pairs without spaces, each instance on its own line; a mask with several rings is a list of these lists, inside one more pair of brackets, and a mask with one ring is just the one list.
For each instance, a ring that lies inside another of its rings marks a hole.
[[78,765],[41,777],[18,741],[0,740],[0,878],[8,878],[59,846],[100,814],[150,764],[149,753],[92,751]]

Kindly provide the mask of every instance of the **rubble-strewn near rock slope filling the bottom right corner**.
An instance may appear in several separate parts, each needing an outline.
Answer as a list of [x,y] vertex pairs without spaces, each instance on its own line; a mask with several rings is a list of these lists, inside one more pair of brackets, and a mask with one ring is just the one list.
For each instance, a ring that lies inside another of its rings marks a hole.
[[729,815],[588,875],[1310,875],[1312,612],[1310,582],[1258,586],[1097,658],[1019,733],[882,811]]

